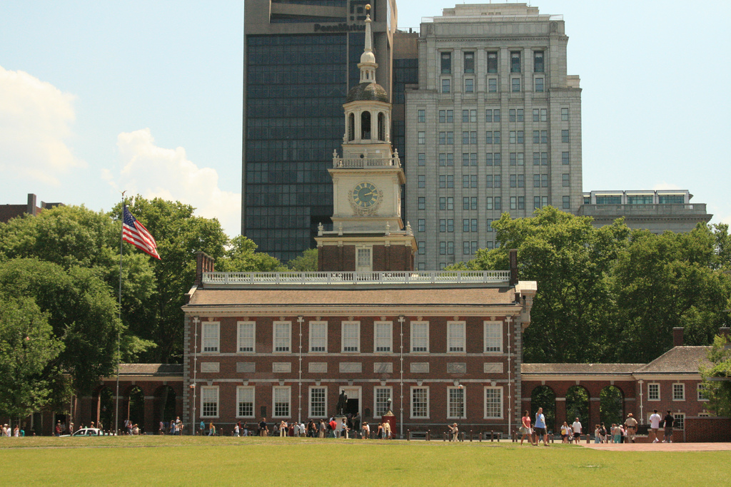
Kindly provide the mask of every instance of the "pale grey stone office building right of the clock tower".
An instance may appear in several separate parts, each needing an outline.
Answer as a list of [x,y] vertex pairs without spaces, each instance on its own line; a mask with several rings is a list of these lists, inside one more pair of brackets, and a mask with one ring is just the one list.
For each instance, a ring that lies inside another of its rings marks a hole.
[[406,219],[417,269],[493,248],[491,223],[582,204],[581,90],[561,15],[457,5],[420,28],[406,90]]

